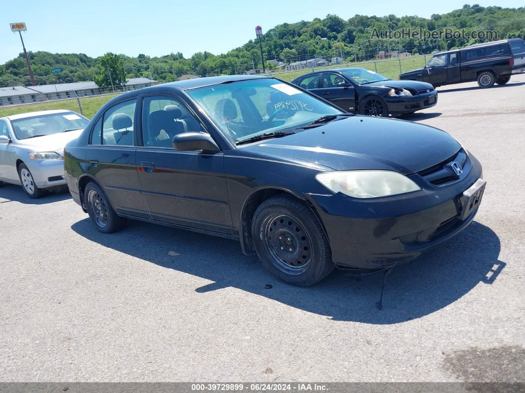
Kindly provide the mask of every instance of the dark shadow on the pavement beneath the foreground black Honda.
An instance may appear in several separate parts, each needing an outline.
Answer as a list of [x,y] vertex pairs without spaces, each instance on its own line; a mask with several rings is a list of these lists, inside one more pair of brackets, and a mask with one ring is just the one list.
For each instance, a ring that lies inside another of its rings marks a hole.
[[104,247],[213,281],[195,288],[197,296],[234,287],[334,321],[394,324],[423,317],[454,303],[476,285],[491,284],[505,267],[498,260],[496,233],[472,222],[455,238],[396,267],[388,275],[379,311],[375,303],[382,272],[355,277],[335,270],[316,285],[298,288],[271,277],[256,256],[241,253],[238,241],[140,221],[129,221],[127,228],[111,235],[98,232],[89,218],[71,228]]

